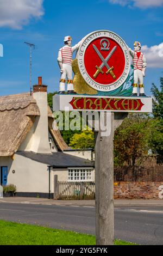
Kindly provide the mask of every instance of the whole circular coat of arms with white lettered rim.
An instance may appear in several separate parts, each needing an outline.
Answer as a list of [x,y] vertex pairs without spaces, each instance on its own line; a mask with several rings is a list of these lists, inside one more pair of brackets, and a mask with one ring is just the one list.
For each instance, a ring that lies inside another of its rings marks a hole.
[[101,92],[111,92],[127,80],[130,54],[124,40],[111,31],[85,36],[78,51],[78,65],[85,82]]

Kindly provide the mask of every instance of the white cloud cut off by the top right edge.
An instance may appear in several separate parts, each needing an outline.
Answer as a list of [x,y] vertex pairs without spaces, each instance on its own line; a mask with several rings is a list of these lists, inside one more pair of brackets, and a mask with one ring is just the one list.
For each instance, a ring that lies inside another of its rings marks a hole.
[[109,0],[112,4],[121,4],[139,7],[141,9],[161,7],[163,6],[163,0]]

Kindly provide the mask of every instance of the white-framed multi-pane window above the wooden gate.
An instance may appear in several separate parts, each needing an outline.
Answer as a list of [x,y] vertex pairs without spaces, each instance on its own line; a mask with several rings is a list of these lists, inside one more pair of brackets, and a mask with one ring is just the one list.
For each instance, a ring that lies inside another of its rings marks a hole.
[[70,181],[92,181],[92,169],[68,169],[68,180]]

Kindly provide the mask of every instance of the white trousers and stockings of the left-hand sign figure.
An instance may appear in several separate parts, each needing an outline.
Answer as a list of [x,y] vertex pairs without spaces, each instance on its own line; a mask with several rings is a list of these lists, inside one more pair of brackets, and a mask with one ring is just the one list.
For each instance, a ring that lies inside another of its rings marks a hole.
[[[66,80],[72,80],[72,66],[69,64],[62,64],[62,69],[64,72],[61,73],[61,79]],[[68,83],[67,84],[67,90],[73,90],[73,83]],[[65,91],[65,83],[60,82],[59,84],[59,91],[64,92]]]

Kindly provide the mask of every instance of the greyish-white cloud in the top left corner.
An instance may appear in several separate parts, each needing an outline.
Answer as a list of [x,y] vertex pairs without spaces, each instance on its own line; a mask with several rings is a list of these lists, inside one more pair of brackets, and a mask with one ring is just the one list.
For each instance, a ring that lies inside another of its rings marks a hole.
[[43,0],[0,0],[0,27],[21,29],[43,15]]

